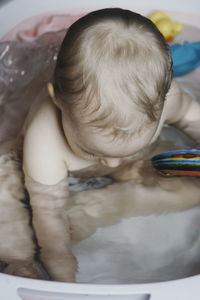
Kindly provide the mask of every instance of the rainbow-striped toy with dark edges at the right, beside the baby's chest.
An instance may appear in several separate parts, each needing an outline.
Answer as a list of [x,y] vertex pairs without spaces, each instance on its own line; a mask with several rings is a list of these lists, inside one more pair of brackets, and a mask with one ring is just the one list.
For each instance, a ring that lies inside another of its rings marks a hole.
[[200,149],[162,152],[152,157],[152,164],[164,175],[200,176]]

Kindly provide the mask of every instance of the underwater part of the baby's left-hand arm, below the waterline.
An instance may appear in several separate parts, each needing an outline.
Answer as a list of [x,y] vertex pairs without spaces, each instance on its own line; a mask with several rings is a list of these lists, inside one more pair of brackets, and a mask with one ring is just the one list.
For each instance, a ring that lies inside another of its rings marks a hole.
[[52,279],[73,282],[76,259],[71,252],[69,223],[64,216],[68,204],[67,178],[54,185],[38,183],[28,175],[25,181],[40,259]]

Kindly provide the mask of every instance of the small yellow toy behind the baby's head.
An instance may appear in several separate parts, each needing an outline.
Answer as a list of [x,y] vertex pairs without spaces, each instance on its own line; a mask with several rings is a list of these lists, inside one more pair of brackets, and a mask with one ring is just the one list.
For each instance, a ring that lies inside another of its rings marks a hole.
[[156,25],[168,42],[171,42],[183,29],[181,23],[173,22],[162,11],[153,13],[149,19]]

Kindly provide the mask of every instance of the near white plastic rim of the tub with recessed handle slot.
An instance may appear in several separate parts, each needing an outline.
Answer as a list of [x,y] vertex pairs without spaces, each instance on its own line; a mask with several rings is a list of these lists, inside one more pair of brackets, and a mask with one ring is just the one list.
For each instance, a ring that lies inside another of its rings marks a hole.
[[192,300],[200,299],[200,276],[154,284],[90,285],[0,275],[2,300]]

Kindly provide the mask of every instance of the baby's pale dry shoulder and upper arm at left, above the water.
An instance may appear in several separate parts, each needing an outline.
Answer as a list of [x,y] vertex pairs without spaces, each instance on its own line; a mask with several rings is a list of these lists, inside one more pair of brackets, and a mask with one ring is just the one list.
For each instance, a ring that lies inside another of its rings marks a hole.
[[64,153],[59,111],[46,98],[30,112],[24,129],[25,174],[43,184],[56,184],[67,176]]

